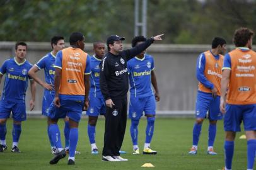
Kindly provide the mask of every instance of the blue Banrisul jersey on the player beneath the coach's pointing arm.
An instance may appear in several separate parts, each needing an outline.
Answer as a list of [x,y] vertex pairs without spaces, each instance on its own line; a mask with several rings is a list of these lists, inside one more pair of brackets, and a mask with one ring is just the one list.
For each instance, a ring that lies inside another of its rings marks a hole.
[[130,93],[133,96],[146,97],[153,95],[151,88],[151,71],[154,70],[154,59],[151,55],[144,55],[143,59],[134,57],[127,62]]

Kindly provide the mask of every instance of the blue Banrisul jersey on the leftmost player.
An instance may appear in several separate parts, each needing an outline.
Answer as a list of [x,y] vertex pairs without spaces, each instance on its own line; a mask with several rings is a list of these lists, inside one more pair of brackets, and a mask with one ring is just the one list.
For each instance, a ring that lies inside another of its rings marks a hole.
[[15,58],[5,60],[0,69],[0,74],[5,76],[2,100],[24,103],[26,89],[28,88],[28,71],[32,64],[25,60],[23,63],[16,62]]

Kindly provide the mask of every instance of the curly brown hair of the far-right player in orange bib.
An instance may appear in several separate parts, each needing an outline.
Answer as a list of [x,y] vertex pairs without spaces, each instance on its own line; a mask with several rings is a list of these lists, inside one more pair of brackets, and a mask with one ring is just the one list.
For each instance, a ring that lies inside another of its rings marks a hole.
[[235,30],[233,36],[233,43],[236,47],[245,47],[247,45],[248,40],[252,38],[254,35],[253,31],[249,28],[241,27]]

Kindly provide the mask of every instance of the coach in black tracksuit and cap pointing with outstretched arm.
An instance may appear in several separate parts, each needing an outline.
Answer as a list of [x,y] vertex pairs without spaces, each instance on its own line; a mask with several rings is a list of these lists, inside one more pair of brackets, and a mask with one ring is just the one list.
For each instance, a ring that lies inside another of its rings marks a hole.
[[151,37],[129,50],[123,50],[124,37],[111,35],[107,38],[108,53],[100,64],[100,89],[107,106],[102,161],[128,161],[119,154],[127,120],[127,61],[146,50],[154,41],[162,40],[162,35]]

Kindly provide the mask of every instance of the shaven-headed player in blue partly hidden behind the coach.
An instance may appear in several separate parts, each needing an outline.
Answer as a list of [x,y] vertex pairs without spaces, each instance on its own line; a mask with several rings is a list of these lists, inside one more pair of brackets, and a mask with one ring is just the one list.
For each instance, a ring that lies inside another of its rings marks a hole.
[[[95,142],[95,127],[99,115],[104,115],[106,113],[105,99],[100,91],[100,62],[105,55],[105,45],[102,42],[93,43],[93,50],[95,55],[91,56],[91,76],[90,76],[90,94],[89,94],[89,108],[86,111],[86,115],[89,116],[88,119],[88,137],[91,144],[91,154],[98,154],[98,147],[96,147]],[[120,154],[125,154],[125,151],[120,150]]]

